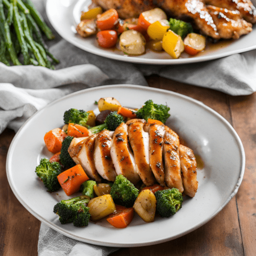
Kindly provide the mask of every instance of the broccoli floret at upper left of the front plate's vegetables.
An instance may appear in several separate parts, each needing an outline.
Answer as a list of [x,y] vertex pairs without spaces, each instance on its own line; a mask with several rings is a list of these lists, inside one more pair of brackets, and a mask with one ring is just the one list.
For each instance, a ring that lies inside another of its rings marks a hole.
[[65,123],[77,123],[87,126],[89,113],[84,110],[70,109],[65,111],[63,120]]

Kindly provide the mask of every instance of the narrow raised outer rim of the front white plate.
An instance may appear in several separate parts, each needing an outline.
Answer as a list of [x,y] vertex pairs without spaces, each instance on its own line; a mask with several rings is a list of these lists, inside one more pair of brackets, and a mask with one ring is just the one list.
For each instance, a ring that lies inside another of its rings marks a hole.
[[173,236],[172,238],[165,238],[165,239],[159,239],[159,240],[154,240],[154,241],[148,241],[148,242],[144,242],[144,243],[129,243],[129,244],[119,244],[119,243],[111,243],[111,242],[100,242],[100,241],[95,241],[95,240],[90,240],[90,239],[84,239],[81,238],[80,236],[76,236],[75,234],[69,232],[68,230],[64,230],[63,228],[60,228],[59,226],[55,225],[52,222],[49,222],[48,220],[44,219],[44,217],[41,217],[40,215],[38,215],[32,208],[29,207],[29,205],[27,205],[24,200],[22,199],[22,197],[20,197],[17,193],[17,191],[14,188],[14,185],[11,182],[11,178],[10,178],[10,170],[9,170],[9,165],[10,165],[10,161],[11,161],[11,153],[13,151],[13,145],[16,143],[16,140],[19,138],[19,134],[23,132],[24,127],[34,118],[34,116],[39,115],[38,113],[45,111],[45,109],[50,108],[51,105],[56,104],[58,101],[61,101],[63,99],[67,99],[70,97],[74,97],[75,95],[84,93],[84,92],[90,92],[90,91],[97,91],[97,90],[101,90],[102,88],[104,89],[108,89],[108,88],[116,88],[116,87],[120,87],[120,88],[132,88],[132,89],[140,89],[143,90],[145,89],[144,86],[139,86],[139,85],[135,85],[135,84],[109,84],[109,85],[105,85],[105,86],[99,86],[99,87],[93,87],[93,88],[88,88],[88,89],[83,89],[71,94],[68,94],[66,96],[63,96],[59,99],[56,99],[54,101],[52,101],[51,103],[49,103],[48,105],[46,105],[44,108],[42,108],[41,110],[37,111],[36,113],[34,113],[29,119],[26,120],[26,122],[20,127],[20,129],[17,131],[17,133],[15,134],[15,136],[13,137],[9,149],[8,149],[8,153],[7,153],[7,159],[6,159],[6,173],[7,173],[7,179],[8,179],[8,183],[13,191],[13,194],[15,195],[15,197],[18,199],[18,201],[20,203],[22,203],[22,205],[34,216],[36,217],[39,221],[44,222],[45,224],[47,224],[49,227],[53,228],[54,230],[62,233],[63,235],[81,241],[81,242],[85,242],[85,243],[90,243],[90,244],[95,244],[95,245],[103,245],[103,246],[112,246],[112,247],[139,247],[139,246],[147,246],[147,245],[155,245],[155,244],[159,244],[159,243],[164,243],[170,240],[174,240],[177,239],[179,237],[184,236],[187,233],[190,233],[194,230],[196,230],[197,228],[203,226],[204,224],[206,224],[209,220],[211,220],[212,218],[214,218],[226,205],[227,203],[237,194],[238,189],[242,183],[243,180],[243,176],[244,176],[244,172],[245,172],[245,151],[244,151],[244,147],[242,144],[242,141],[239,137],[239,135],[237,134],[236,130],[234,130],[234,128],[232,127],[232,125],[223,117],[221,116],[218,112],[216,112],[215,110],[211,109],[209,106],[205,105],[203,102],[196,100],[194,98],[191,98],[189,96],[180,94],[180,93],[176,93],[173,91],[168,91],[168,90],[164,90],[164,89],[158,89],[158,88],[151,88],[151,87],[146,87],[147,90],[150,90],[152,92],[165,92],[168,93],[170,95],[174,95],[175,97],[180,97],[183,98],[185,100],[191,101],[197,105],[200,105],[201,107],[203,107],[205,110],[207,110],[208,112],[210,112],[211,114],[215,115],[216,117],[218,117],[218,119],[220,119],[225,126],[227,127],[227,129],[229,131],[232,132],[232,135],[234,137],[234,139],[236,139],[236,142],[239,145],[239,152],[241,155],[241,167],[240,167],[240,173],[239,173],[239,177],[237,180],[237,183],[234,184],[232,192],[230,193],[229,197],[226,199],[226,201],[218,208],[216,209],[216,211],[209,216],[207,219],[205,219],[203,222],[200,222],[198,225],[194,226],[193,228],[190,228],[188,230],[186,230],[185,232],[179,233],[176,236]]

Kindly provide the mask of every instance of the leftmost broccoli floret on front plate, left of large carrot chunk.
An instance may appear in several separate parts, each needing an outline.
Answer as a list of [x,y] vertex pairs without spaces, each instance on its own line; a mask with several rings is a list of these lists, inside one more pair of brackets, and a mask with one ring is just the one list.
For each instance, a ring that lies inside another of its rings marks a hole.
[[35,168],[36,175],[42,180],[48,191],[56,191],[60,188],[57,176],[61,173],[61,166],[58,162],[50,162],[46,158],[40,160]]

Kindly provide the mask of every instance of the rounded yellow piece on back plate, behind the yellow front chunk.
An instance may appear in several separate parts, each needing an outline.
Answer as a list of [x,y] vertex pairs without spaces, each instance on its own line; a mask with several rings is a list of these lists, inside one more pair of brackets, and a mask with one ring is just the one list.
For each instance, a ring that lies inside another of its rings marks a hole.
[[157,20],[147,28],[147,34],[154,40],[162,40],[169,27],[168,20]]

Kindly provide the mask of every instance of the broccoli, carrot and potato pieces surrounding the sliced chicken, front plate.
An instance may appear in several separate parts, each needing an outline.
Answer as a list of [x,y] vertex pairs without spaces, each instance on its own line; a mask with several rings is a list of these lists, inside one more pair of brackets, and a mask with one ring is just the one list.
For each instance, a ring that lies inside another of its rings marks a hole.
[[179,189],[170,189],[157,182],[151,186],[142,183],[134,185],[122,174],[113,181],[101,179],[99,182],[90,178],[81,164],[73,161],[69,151],[72,140],[98,134],[105,129],[114,131],[121,123],[133,118],[163,124],[170,116],[168,106],[147,100],[135,110],[122,106],[112,97],[101,98],[96,104],[99,115],[96,116],[93,111],[69,109],[63,113],[65,125],[62,129],[54,128],[44,137],[46,147],[53,156],[49,160],[41,159],[35,173],[48,191],[63,189],[70,197],[53,208],[60,223],[83,227],[90,220],[95,222],[105,218],[112,226],[125,228],[135,214],[145,222],[153,222],[156,215],[168,218],[176,214],[183,203]]

